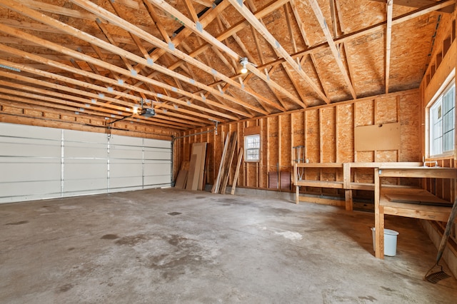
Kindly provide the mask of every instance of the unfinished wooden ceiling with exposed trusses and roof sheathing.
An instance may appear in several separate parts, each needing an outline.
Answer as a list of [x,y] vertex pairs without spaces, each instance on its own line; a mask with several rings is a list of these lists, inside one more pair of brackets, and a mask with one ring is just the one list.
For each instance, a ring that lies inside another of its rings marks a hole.
[[372,1],[0,0],[0,102],[166,133],[416,88],[456,0]]

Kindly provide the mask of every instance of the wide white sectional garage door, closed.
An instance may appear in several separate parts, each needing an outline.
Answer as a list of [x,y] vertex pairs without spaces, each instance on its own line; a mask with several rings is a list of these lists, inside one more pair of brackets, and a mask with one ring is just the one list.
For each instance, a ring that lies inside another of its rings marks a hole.
[[0,203],[171,185],[171,141],[0,123]]

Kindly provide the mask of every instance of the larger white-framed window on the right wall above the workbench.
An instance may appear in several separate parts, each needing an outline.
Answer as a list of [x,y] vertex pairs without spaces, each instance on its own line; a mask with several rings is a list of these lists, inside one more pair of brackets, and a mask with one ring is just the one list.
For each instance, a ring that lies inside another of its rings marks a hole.
[[433,101],[429,110],[430,156],[438,156],[454,151],[456,129],[456,84],[451,85]]

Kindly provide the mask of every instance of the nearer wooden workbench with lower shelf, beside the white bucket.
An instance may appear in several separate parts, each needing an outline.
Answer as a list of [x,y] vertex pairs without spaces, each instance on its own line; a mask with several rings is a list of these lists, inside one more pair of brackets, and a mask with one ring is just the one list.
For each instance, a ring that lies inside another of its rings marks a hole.
[[447,222],[452,203],[433,196],[423,189],[386,188],[381,178],[451,178],[456,186],[457,169],[439,167],[379,167],[374,171],[374,205],[376,258],[384,258],[384,215],[421,218]]

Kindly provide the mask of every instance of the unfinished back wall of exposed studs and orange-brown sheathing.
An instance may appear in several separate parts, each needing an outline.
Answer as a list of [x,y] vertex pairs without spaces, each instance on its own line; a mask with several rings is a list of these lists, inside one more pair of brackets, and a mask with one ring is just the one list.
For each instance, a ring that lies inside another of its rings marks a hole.
[[[238,132],[238,146],[243,148],[244,136],[258,131],[261,137],[261,156],[258,162],[243,161],[238,187],[268,188],[268,172],[292,172],[293,146],[305,146],[305,158],[310,163],[335,162],[384,162],[421,161],[420,99],[417,89],[389,93],[386,95],[361,98],[327,106],[319,106],[289,113],[219,125],[218,133],[201,133],[211,128],[186,131],[176,143],[180,159],[189,161],[192,143],[211,143],[213,162],[207,166],[208,181],[214,181],[224,148],[227,133]],[[383,123],[400,123],[401,146],[389,151],[355,151],[354,128]],[[235,168],[232,168],[229,185],[233,182]],[[333,169],[308,171],[309,179],[338,180],[341,173]],[[360,173],[358,180],[373,182],[373,173]],[[326,189],[329,194],[336,189]]]

